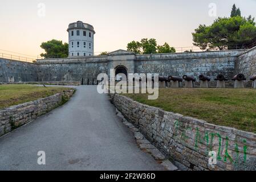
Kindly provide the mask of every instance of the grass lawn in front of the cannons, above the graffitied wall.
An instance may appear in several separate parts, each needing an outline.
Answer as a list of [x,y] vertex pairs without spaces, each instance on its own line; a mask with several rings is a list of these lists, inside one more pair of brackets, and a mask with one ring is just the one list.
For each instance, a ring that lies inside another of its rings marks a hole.
[[160,88],[157,100],[125,94],[143,104],[256,133],[256,89]]

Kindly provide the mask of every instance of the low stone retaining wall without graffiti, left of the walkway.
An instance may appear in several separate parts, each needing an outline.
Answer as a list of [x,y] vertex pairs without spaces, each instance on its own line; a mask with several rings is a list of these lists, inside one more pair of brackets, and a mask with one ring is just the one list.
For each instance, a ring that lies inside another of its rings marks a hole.
[[64,104],[73,93],[74,90],[65,90],[53,96],[0,109],[0,136]]

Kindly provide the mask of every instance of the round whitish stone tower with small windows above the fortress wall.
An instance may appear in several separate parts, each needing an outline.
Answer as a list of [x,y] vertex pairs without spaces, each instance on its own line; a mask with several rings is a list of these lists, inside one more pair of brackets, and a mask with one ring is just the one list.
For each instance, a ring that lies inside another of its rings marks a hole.
[[94,55],[94,27],[81,21],[68,25],[68,57]]

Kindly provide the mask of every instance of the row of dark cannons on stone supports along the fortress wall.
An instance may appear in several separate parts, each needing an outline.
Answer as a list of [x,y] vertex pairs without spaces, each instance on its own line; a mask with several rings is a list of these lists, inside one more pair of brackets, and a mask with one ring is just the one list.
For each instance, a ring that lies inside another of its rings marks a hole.
[[[200,80],[200,87],[201,88],[209,88],[209,81],[211,78],[209,76],[205,75],[199,75],[198,76]],[[185,87],[186,88],[193,88],[195,87],[194,82],[196,81],[196,78],[189,75],[184,75],[182,77],[179,76],[168,76],[168,77],[159,77],[159,86],[165,87],[166,84],[171,84],[170,87],[182,87],[182,81],[185,80]],[[214,79],[217,81],[217,88],[225,88],[225,81],[227,81],[227,78],[225,78],[224,75],[219,74]],[[239,73],[235,75],[232,79],[234,81],[234,88],[244,88],[243,81],[246,80],[245,75],[242,73]],[[253,75],[250,77],[250,80],[253,81],[252,88],[256,88],[256,75]]]

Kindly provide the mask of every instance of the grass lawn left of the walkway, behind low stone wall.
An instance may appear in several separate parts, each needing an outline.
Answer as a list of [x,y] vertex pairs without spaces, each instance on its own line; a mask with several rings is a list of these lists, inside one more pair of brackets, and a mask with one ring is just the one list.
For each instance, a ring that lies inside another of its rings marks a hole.
[[25,84],[0,85],[0,109],[48,97],[70,88]]

